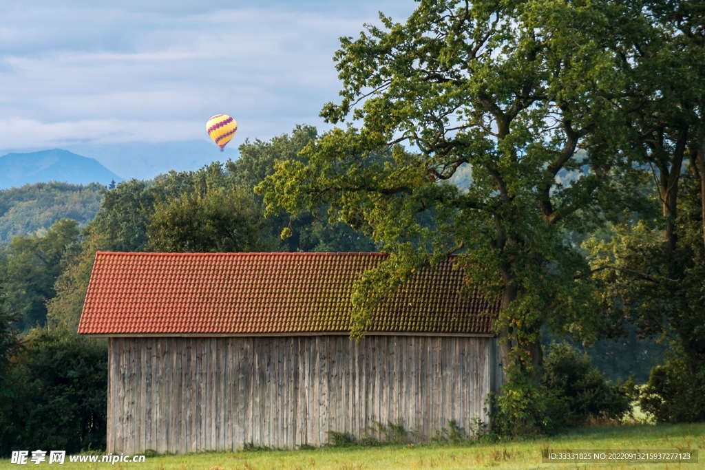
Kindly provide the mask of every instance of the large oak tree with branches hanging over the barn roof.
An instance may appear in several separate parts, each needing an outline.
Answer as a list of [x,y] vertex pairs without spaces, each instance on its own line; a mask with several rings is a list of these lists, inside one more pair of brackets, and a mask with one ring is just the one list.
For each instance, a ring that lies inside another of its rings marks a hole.
[[[307,161],[279,161],[259,190],[271,211],[330,204],[391,254],[357,283],[353,335],[386,292],[454,253],[468,283],[501,302],[505,378],[537,383],[546,323],[594,335],[589,267],[564,235],[623,206],[628,155],[611,149],[625,125],[613,47],[625,11],[421,0],[405,23],[380,16],[341,38],[341,101],[321,115],[347,125],[310,144]],[[461,190],[453,178],[468,168]]]

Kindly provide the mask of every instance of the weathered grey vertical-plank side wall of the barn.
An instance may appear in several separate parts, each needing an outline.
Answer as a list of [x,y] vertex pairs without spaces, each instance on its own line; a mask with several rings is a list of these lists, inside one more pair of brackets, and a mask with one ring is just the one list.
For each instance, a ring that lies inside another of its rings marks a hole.
[[108,452],[321,445],[401,421],[434,435],[483,421],[494,338],[111,338]]

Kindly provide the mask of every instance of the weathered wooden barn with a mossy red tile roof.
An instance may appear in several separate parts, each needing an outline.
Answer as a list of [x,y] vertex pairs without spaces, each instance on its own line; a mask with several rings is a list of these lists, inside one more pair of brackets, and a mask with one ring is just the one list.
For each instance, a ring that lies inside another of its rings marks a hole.
[[78,332],[109,338],[108,452],[322,445],[400,422],[487,421],[496,305],[424,269],[348,338],[368,253],[99,252]]

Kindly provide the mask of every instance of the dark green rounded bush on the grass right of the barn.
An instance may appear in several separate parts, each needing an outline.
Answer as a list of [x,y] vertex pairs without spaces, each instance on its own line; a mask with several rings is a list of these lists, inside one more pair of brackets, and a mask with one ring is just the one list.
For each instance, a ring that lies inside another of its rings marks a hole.
[[630,412],[630,398],[610,383],[565,343],[552,343],[544,361],[541,384],[546,393],[546,415],[553,428],[582,426],[590,418],[620,419]]

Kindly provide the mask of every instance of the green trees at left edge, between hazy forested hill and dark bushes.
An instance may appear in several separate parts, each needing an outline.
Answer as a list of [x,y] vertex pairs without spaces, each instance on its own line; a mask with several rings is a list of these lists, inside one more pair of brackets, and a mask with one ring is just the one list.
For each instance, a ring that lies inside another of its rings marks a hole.
[[54,297],[54,283],[65,267],[64,257],[78,249],[78,235],[78,223],[64,218],[44,233],[13,237],[0,249],[7,306],[18,313],[20,330],[44,325],[46,302]]

